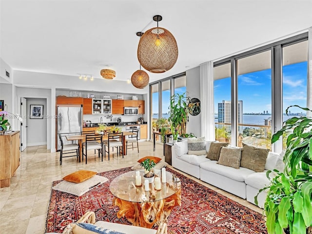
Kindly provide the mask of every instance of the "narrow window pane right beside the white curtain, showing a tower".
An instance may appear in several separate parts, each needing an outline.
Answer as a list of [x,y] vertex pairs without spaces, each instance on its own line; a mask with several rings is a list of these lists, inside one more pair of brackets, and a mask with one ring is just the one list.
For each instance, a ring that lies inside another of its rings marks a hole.
[[214,68],[215,139],[231,141],[231,63]]

